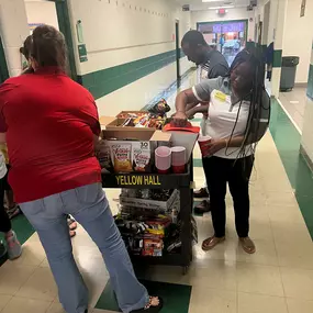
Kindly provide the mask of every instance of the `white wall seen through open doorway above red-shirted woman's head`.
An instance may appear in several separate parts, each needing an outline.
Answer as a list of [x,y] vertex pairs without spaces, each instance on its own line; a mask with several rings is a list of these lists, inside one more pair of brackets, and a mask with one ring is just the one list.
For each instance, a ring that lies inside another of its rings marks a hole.
[[31,24],[47,24],[58,30],[55,3],[49,1],[25,1],[27,21]]

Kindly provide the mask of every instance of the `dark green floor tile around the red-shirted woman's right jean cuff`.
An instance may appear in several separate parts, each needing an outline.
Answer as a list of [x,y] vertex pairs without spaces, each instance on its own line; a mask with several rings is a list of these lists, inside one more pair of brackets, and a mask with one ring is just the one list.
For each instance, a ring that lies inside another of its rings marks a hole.
[[[191,286],[141,280],[149,294],[157,294],[164,300],[163,313],[188,313]],[[110,281],[107,283],[96,309],[120,312]]]

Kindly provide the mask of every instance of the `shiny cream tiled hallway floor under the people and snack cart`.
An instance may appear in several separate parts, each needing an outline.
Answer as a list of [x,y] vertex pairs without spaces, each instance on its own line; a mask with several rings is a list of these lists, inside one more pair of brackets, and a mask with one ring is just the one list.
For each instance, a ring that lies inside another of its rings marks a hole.
[[[190,80],[185,81],[185,86],[189,83]],[[169,96],[169,103],[172,104],[172,100],[174,96]],[[304,194],[305,186],[311,188],[311,182],[298,179],[294,185],[292,166],[297,165],[290,165],[293,161],[283,155],[288,150],[283,144],[292,135],[278,137],[276,134],[280,125],[288,132],[292,124],[279,104],[273,105],[271,133],[266,134],[257,148],[250,182],[250,236],[257,253],[247,255],[238,246],[232,200],[227,195],[224,244],[204,253],[202,241],[213,232],[211,216],[197,216],[199,244],[193,247],[189,272],[182,276],[181,268],[157,266],[139,273],[150,290],[165,298],[163,313],[313,312],[313,245],[309,232],[313,233],[313,198],[311,192]],[[200,122],[197,118],[194,124]],[[291,139],[297,142],[297,136]],[[298,156],[297,143],[291,148]],[[197,188],[202,187],[203,179],[200,150],[195,147]],[[303,176],[303,179],[306,178]],[[105,191],[112,211],[116,212],[120,190]],[[38,237],[25,224],[23,217],[14,221],[14,227],[25,242],[22,257],[0,268],[0,312],[64,313]],[[78,228],[72,246],[90,290],[90,312],[116,312],[108,271],[82,227]]]

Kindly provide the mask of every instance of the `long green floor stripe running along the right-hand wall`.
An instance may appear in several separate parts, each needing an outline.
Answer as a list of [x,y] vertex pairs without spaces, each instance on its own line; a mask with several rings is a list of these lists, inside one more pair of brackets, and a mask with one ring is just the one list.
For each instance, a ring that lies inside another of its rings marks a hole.
[[300,154],[301,135],[276,99],[271,105],[270,133],[313,239],[313,175]]

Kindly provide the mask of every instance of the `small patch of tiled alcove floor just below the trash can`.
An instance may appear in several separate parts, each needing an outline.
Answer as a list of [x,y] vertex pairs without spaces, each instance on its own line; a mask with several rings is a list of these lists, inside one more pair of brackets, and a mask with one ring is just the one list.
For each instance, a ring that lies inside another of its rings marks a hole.
[[292,118],[295,125],[299,127],[300,132],[302,132],[304,120],[303,115],[308,101],[306,88],[295,87],[292,91],[280,92],[279,100]]

